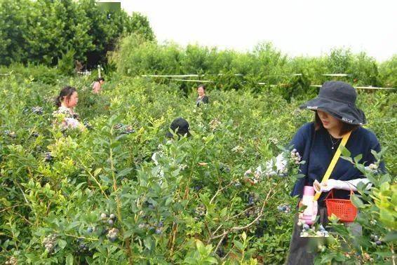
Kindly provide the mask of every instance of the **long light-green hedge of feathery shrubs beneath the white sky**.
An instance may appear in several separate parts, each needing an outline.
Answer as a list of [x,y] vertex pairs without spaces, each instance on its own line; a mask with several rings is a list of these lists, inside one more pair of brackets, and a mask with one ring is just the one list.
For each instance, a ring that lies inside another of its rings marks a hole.
[[[308,92],[316,94],[316,88],[311,85],[329,80],[346,81],[354,86],[397,86],[393,81],[396,60],[378,64],[365,53],[354,54],[349,49],[332,49],[329,55],[321,57],[288,57],[271,43],[260,43],[253,50],[240,53],[198,45],[159,44],[131,35],[121,39],[111,61],[120,74],[127,76],[198,74],[184,79],[212,81],[208,86],[222,90],[243,88],[260,92],[271,90],[269,85],[277,85],[276,90],[287,100]],[[168,83],[170,78],[154,80]]]

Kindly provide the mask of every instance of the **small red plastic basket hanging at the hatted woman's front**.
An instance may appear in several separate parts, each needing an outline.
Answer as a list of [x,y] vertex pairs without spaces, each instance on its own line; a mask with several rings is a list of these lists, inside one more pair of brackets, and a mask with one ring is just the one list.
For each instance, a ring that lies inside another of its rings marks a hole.
[[[353,191],[350,191],[351,195],[353,195]],[[327,206],[328,217],[334,214],[339,218],[340,222],[344,223],[354,222],[354,219],[356,219],[356,206],[350,200],[334,198],[333,190],[325,198],[325,205]]]

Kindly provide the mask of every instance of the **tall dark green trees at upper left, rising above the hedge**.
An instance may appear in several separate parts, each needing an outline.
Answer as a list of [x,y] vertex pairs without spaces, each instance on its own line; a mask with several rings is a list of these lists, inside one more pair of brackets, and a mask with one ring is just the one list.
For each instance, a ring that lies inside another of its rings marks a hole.
[[74,60],[93,67],[107,61],[123,34],[154,39],[143,15],[120,11],[108,16],[94,0],[0,1],[0,64],[55,65],[72,48]]

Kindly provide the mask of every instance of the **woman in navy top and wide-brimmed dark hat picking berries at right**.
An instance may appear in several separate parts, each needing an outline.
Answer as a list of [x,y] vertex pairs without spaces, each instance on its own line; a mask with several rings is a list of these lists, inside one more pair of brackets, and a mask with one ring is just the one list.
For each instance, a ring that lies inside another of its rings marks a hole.
[[[300,171],[305,177],[297,179],[291,195],[298,196],[301,202],[307,186],[321,191],[321,196],[318,201],[313,202],[311,209],[313,217],[318,216],[318,222],[324,227],[328,222],[324,203],[328,191],[333,189],[335,198],[349,198],[350,191],[357,191],[359,182],[367,184],[367,189],[370,189],[370,183],[363,173],[341,158],[337,160],[330,179],[320,183],[344,135],[349,135],[345,137],[346,149],[352,157],[361,154],[360,163],[366,166],[377,163],[371,150],[380,151],[377,137],[370,130],[361,127],[366,123],[366,118],[363,111],[356,107],[356,97],[356,90],[348,83],[324,83],[318,97],[300,106],[302,109],[315,111],[315,121],[303,125],[290,142],[302,161],[306,161],[300,165]],[[384,170],[383,163],[380,163],[379,169]],[[300,223],[305,223],[302,215],[295,217],[287,264],[314,264],[315,254],[309,245],[309,238],[301,236],[302,228],[298,225],[298,219]]]

